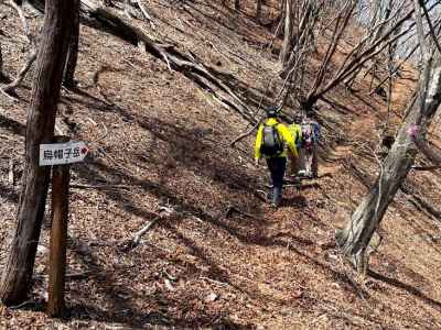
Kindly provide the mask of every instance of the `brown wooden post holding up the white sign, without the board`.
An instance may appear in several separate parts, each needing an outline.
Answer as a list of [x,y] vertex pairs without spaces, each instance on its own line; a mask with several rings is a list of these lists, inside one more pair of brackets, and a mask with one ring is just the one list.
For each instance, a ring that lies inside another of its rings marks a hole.
[[[56,138],[56,142],[67,142],[66,138]],[[52,229],[49,273],[47,315],[63,315],[65,277],[66,277],[66,242],[68,218],[69,165],[53,166],[52,172]]]

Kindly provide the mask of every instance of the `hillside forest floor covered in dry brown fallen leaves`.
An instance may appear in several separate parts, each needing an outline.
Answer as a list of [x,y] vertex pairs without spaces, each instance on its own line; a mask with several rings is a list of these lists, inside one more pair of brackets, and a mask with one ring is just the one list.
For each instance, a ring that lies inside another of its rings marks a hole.
[[[207,2],[148,0],[157,29],[137,24],[197,54],[241,97],[258,101],[278,70],[277,56],[262,50],[271,33],[220,1]],[[3,2],[0,20],[6,72],[13,75],[25,41]],[[90,28],[80,33],[79,88],[63,91],[58,125],[92,150],[72,166],[67,273],[82,276],[67,284],[68,317],[47,318],[46,216],[32,296],[21,308],[0,309],[1,329],[441,328],[440,211],[421,208],[440,205],[437,173],[410,173],[365,278],[333,243],[379,172],[375,132],[387,107],[368,82],[320,103],[320,177],[300,194],[287,188],[275,210],[256,193],[268,177],[254,165],[252,136],[229,146],[249,129],[238,113],[138,48]],[[410,68],[396,80],[391,125],[415,84]],[[31,86],[29,77],[17,102],[0,97],[0,272],[15,226]],[[126,249],[161,208],[170,213]]]

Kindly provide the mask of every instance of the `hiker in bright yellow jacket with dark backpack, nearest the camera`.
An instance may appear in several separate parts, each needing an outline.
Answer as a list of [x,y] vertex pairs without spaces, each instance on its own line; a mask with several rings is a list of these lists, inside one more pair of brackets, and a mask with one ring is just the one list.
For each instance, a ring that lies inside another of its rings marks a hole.
[[282,198],[283,177],[287,169],[287,148],[298,156],[294,140],[287,127],[277,118],[277,108],[267,111],[267,120],[259,125],[255,142],[256,165],[265,156],[271,174],[271,204],[278,207]]

